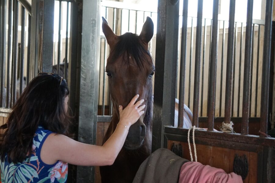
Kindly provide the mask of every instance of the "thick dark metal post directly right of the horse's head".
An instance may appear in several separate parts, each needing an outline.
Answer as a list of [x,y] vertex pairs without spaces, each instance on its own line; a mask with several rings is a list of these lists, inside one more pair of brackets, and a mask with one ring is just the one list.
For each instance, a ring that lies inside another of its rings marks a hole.
[[174,125],[179,1],[160,0],[157,17],[152,152],[163,147],[164,126]]

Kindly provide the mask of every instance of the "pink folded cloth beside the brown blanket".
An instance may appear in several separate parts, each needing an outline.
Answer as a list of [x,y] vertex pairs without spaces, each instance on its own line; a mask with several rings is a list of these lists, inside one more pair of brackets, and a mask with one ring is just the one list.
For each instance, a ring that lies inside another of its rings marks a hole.
[[182,165],[179,183],[242,183],[240,175],[227,174],[220,168],[203,165],[199,162],[187,162]]

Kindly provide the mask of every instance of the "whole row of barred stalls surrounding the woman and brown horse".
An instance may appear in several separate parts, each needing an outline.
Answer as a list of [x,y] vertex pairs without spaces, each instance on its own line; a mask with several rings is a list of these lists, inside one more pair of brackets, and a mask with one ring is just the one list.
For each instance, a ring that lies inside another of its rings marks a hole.
[[[33,77],[56,72],[70,88],[74,138],[102,145],[115,104],[105,75],[110,48],[101,16],[116,35],[140,34],[149,16],[156,68],[152,152],[164,147],[227,173],[242,160],[244,182],[275,182],[275,138],[269,137],[275,120],[273,0],[259,1],[256,19],[253,0],[247,9],[228,1],[224,19],[222,1],[213,0],[211,17],[203,16],[203,0],[190,15],[191,2],[159,0],[158,7],[146,7],[108,0],[2,0],[0,125]],[[236,20],[235,9],[247,11],[245,21]],[[192,129],[183,128],[185,104],[193,111]],[[69,165],[68,182],[101,182],[99,167]]]

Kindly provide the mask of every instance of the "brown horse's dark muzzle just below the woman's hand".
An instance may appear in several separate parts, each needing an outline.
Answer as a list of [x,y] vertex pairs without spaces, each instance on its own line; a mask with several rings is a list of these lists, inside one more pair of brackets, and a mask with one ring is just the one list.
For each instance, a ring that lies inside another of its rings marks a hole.
[[146,126],[139,119],[135,124],[130,127],[123,147],[128,150],[139,149],[143,144],[145,136]]

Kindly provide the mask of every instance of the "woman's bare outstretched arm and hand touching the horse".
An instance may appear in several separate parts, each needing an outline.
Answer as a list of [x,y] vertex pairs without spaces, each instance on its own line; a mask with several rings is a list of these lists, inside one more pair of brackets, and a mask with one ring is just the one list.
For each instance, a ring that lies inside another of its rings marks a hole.
[[84,144],[64,135],[51,134],[42,146],[42,161],[53,164],[57,160],[62,160],[82,166],[113,164],[125,142],[130,126],[144,113],[145,105],[140,106],[144,100],[140,100],[135,104],[137,99],[138,95],[134,96],[124,110],[122,106],[119,107],[119,124],[121,125],[117,125],[116,130],[104,145]]

